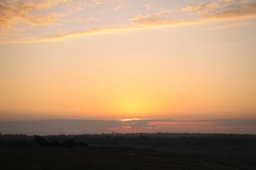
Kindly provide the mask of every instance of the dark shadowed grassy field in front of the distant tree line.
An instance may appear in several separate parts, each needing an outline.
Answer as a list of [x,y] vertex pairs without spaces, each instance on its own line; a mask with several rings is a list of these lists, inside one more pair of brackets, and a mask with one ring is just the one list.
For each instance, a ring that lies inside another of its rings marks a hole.
[[[243,149],[236,148],[239,144],[232,150],[226,150],[223,144],[207,149],[202,148],[207,147],[205,145],[190,145],[190,149],[186,149],[179,144],[182,149],[165,151],[153,150],[150,146],[141,149],[116,144],[111,147],[79,146],[75,141],[72,146],[66,141],[59,146],[42,146],[34,139],[24,138],[0,141],[0,169],[256,169],[255,144],[251,145],[247,139],[248,146],[242,143]],[[172,147],[175,146],[178,144]]]

